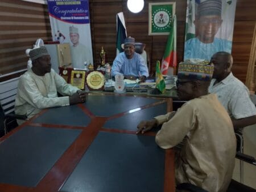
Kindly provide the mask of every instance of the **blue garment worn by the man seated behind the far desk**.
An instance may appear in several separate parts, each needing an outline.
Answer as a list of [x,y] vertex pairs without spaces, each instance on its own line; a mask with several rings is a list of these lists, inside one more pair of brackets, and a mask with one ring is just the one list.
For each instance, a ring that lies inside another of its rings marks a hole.
[[122,52],[115,57],[112,66],[112,76],[117,74],[148,77],[148,69],[140,54],[134,52],[133,58],[128,59]]

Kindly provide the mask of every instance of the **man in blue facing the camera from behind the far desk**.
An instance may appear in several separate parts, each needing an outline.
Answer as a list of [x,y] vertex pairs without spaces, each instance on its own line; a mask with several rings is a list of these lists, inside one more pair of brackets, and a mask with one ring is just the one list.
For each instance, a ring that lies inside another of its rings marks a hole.
[[148,77],[148,68],[143,57],[134,51],[135,39],[125,39],[125,52],[115,57],[112,66],[112,76],[117,74],[125,75],[126,79],[136,80],[139,78],[144,82]]

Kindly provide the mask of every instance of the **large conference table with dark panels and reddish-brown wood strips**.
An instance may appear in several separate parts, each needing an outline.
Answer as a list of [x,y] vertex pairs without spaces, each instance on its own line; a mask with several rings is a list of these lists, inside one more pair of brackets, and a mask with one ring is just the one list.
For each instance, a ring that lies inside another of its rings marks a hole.
[[171,99],[89,95],[45,109],[1,138],[0,191],[175,191],[174,152],[137,124]]

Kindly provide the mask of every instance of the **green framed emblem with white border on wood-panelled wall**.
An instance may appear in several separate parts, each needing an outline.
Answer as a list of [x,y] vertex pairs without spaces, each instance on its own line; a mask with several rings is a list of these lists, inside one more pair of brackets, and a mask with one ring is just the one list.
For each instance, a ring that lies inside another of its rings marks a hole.
[[148,35],[168,35],[175,2],[148,3]]

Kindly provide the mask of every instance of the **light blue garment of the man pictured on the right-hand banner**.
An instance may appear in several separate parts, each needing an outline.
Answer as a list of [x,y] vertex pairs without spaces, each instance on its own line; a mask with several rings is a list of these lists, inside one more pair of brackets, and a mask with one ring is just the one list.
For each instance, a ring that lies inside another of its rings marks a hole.
[[232,41],[214,38],[212,43],[205,44],[197,37],[185,41],[184,60],[191,58],[206,59],[210,61],[217,52],[231,53]]

